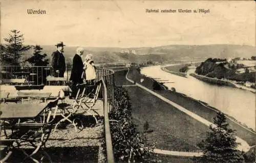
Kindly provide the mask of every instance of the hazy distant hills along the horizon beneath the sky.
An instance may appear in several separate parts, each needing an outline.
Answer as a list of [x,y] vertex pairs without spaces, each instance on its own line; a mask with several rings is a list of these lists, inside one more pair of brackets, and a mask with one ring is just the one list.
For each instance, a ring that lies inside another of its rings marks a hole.
[[[56,49],[53,45],[41,45],[43,52],[48,57]],[[119,47],[84,47],[84,53],[92,53],[95,63],[129,63],[129,62],[170,62],[174,60],[195,60],[206,58],[250,58],[255,56],[256,48],[249,45],[167,45],[157,47],[134,47],[137,53],[120,53],[125,48]],[[65,46],[66,60],[72,59],[76,47]],[[27,52],[27,57],[32,55],[32,49]],[[85,55],[84,55],[85,56]]]

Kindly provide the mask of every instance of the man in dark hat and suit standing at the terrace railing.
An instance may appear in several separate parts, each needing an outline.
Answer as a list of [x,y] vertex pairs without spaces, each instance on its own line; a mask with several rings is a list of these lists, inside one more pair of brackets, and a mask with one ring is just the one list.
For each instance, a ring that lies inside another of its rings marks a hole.
[[52,68],[54,77],[64,77],[64,72],[66,70],[65,57],[63,56],[63,42],[58,42],[57,50],[52,53]]

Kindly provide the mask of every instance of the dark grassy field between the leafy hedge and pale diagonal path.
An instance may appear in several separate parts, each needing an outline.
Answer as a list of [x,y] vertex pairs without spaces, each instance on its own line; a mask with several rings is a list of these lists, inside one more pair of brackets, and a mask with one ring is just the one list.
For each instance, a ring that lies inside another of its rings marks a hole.
[[197,151],[196,144],[205,138],[208,126],[177,110],[172,105],[138,87],[125,87],[132,101],[132,116],[140,131],[147,121],[148,141],[157,148]]

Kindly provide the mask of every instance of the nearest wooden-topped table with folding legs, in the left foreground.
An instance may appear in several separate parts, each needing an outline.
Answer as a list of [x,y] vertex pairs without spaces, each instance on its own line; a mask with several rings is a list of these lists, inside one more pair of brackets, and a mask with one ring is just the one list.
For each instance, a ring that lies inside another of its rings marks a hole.
[[[26,104],[9,104],[1,105],[0,117],[1,130],[4,130],[5,139],[0,140],[0,146],[9,147],[9,153],[12,153],[12,149],[21,150],[26,157],[25,160],[30,158],[35,162],[38,160],[47,159],[47,162],[51,162],[50,156],[42,149],[49,138],[52,129],[52,121],[55,118],[57,111],[58,98],[45,103],[26,103]],[[52,115],[52,108],[55,107],[54,115]],[[50,121],[50,117],[53,119]],[[11,130],[7,132],[6,130]],[[14,143],[15,142],[15,143]],[[31,146],[34,148],[31,153],[26,152],[20,148],[22,146]],[[34,155],[41,151],[44,156],[40,159],[35,159]],[[9,157],[8,153],[8,157]],[[4,157],[3,159],[8,159]],[[3,161],[3,159],[1,161]]]

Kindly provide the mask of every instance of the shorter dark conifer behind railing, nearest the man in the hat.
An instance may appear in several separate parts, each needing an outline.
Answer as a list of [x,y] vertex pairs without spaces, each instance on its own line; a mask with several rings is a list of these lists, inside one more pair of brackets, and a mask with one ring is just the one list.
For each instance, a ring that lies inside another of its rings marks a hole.
[[33,49],[33,56],[26,61],[31,63],[33,66],[47,66],[49,64],[49,60],[46,59],[46,53],[41,55],[42,48],[40,47],[40,45],[33,46]]

